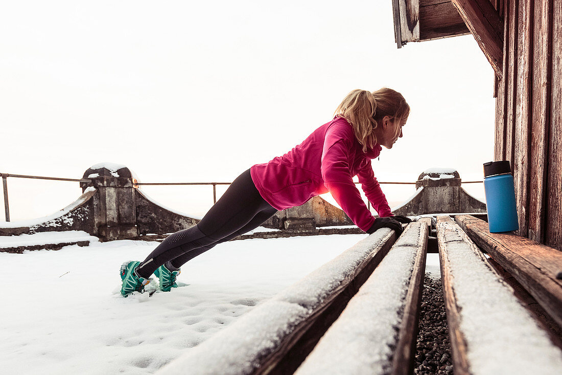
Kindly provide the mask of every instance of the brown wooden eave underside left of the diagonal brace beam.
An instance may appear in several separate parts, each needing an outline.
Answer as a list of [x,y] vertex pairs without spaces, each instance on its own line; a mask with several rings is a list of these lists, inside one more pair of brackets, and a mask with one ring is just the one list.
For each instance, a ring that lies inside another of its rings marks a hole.
[[463,19],[450,1],[431,4],[420,2],[420,40],[470,34]]

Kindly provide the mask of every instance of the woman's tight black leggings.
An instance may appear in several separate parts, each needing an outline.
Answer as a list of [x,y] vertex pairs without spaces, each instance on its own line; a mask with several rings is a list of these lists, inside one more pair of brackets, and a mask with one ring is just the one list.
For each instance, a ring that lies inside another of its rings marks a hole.
[[137,274],[149,278],[170,261],[179,268],[216,244],[244,234],[268,220],[277,209],[261,197],[250,169],[238,176],[198,224],[168,236],[141,262]]

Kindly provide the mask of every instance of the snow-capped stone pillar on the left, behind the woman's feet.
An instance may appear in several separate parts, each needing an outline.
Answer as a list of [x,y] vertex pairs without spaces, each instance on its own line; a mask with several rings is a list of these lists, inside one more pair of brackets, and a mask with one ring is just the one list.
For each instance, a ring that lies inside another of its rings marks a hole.
[[93,213],[97,235],[105,240],[138,236],[133,187],[136,178],[129,168],[113,163],[96,164],[84,172],[83,178],[92,182],[80,182],[82,191],[89,186],[97,190]]

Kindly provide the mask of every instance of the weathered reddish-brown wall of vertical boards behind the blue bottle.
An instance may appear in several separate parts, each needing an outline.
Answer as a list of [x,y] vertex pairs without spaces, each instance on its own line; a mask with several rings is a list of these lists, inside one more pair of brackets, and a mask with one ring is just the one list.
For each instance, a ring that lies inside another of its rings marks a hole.
[[496,0],[504,15],[495,159],[510,160],[519,234],[562,250],[562,0]]

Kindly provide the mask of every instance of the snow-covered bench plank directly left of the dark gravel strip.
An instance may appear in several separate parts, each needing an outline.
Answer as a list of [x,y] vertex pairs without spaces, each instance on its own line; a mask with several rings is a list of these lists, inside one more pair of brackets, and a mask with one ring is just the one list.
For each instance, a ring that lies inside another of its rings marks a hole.
[[428,223],[407,226],[296,374],[413,372]]

